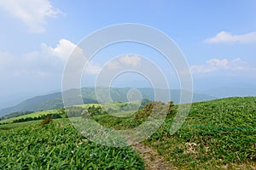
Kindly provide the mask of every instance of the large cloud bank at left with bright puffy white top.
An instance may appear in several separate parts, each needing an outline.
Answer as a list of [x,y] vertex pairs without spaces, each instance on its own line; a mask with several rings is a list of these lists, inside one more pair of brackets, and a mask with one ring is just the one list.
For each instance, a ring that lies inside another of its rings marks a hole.
[[[83,50],[76,47],[73,42],[61,39],[56,47],[42,43],[40,50],[22,56],[0,52],[0,71],[3,74],[9,74],[9,76],[47,77],[61,74],[69,55],[73,53],[73,49],[76,49],[75,54],[84,55]],[[96,74],[100,69],[100,66],[91,62],[86,67],[86,71],[90,75]]]

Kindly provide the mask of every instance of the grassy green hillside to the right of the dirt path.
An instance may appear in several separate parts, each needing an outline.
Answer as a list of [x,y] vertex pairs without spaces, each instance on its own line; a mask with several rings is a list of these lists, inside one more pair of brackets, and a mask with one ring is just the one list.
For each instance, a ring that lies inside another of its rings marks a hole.
[[217,99],[192,105],[183,126],[169,134],[172,115],[145,141],[184,169],[253,169],[256,98]]

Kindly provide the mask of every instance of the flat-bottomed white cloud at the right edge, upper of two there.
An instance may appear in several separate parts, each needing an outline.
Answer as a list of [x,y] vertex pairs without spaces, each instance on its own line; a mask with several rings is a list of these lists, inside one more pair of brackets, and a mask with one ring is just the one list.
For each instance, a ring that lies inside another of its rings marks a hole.
[[215,37],[205,40],[207,43],[221,43],[221,42],[241,42],[250,43],[256,42],[256,32],[251,32],[242,35],[232,35],[230,32],[221,31]]

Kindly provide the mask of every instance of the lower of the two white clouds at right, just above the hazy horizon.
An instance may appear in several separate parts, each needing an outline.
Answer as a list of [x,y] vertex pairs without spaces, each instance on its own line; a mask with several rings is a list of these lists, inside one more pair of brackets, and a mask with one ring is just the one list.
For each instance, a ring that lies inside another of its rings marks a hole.
[[240,58],[229,61],[228,59],[210,59],[205,65],[192,65],[192,73],[208,73],[212,71],[245,71],[253,70],[247,62]]

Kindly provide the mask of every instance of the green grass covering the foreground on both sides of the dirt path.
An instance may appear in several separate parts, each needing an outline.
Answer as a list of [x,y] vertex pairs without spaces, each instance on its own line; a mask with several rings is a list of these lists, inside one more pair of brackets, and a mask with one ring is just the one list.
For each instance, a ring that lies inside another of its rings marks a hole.
[[[89,105],[84,105],[87,107]],[[94,119],[105,127],[133,128],[147,118],[146,110],[125,118],[100,115]],[[171,134],[176,111],[177,105],[172,106],[158,131],[143,141],[157,150],[166,162],[177,169],[256,168],[255,97],[195,103],[183,126]],[[39,112],[26,116],[37,114]],[[111,148],[94,144],[79,134],[69,119],[55,119],[47,127],[41,127],[40,122],[0,125],[0,169],[144,168],[143,160],[131,147]]]

